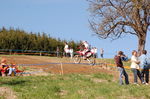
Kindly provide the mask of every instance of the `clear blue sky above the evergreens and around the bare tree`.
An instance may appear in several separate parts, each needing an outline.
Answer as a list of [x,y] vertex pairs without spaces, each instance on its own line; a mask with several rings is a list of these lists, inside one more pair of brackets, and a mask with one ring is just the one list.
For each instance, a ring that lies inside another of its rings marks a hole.
[[[127,35],[118,40],[100,39],[91,31],[86,0],[0,0],[0,28],[19,28],[27,32],[45,32],[66,40],[86,40],[104,49],[105,58],[113,58],[122,50],[129,57],[137,50],[137,37]],[[146,49],[150,51],[150,32]],[[98,53],[99,54],[99,53]]]

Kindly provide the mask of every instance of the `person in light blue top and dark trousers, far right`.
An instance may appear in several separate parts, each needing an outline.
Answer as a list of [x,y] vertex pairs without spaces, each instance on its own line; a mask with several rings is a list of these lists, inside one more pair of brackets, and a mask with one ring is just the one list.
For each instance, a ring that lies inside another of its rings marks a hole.
[[[148,85],[149,82],[149,67],[148,67],[148,57],[146,56],[147,51],[143,50],[141,56],[139,57],[140,60],[140,68],[141,68],[141,80],[143,84]],[[144,79],[145,77],[145,79]]]

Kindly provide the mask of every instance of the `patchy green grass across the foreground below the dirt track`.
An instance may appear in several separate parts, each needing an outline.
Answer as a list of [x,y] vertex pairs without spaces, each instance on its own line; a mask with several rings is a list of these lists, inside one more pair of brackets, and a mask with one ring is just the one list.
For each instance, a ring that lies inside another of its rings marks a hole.
[[[96,79],[97,82],[94,80]],[[100,82],[99,82],[100,81]],[[150,86],[123,85],[108,74],[1,77],[18,99],[149,99]],[[1,96],[0,99],[3,99]]]

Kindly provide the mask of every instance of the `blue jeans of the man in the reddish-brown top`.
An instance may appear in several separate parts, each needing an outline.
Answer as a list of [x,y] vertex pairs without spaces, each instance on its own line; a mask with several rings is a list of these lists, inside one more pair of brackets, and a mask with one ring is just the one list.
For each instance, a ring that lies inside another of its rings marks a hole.
[[128,80],[128,74],[126,73],[125,69],[122,67],[118,67],[118,71],[119,71],[119,81],[120,81],[120,85],[123,85],[123,76],[125,77],[125,83],[129,84],[129,80]]

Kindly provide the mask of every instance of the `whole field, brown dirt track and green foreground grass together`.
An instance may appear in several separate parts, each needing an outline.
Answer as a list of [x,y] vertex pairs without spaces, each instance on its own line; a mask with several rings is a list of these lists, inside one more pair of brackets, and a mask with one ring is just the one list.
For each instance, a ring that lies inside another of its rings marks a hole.
[[[131,84],[120,86],[113,66],[72,64],[68,58],[5,57],[8,62],[26,64],[26,72],[31,75],[1,77],[0,99],[150,99],[150,86],[133,85],[130,70]],[[109,59],[97,62],[113,63]]]

